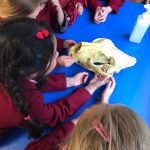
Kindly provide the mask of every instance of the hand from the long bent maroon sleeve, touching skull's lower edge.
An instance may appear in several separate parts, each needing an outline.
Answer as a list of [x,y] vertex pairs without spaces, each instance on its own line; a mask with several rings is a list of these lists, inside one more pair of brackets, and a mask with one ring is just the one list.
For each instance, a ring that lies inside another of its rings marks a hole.
[[94,78],[89,82],[89,84],[85,87],[89,93],[92,95],[97,88],[106,84],[109,81],[109,76],[103,75],[95,75]]

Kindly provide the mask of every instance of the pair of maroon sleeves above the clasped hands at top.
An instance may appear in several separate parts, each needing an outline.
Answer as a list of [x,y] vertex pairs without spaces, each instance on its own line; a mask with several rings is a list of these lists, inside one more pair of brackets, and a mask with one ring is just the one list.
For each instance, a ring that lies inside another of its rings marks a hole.
[[[124,1],[125,0],[106,0],[107,6],[110,6],[113,9],[112,13],[117,13]],[[98,6],[103,6],[100,0],[87,0],[87,2],[88,7],[91,8],[94,12]]]

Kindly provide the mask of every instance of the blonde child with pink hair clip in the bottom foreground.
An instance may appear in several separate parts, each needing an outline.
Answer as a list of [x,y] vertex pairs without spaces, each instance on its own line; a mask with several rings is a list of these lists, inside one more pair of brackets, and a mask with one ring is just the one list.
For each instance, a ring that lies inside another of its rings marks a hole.
[[[112,91],[113,86],[108,84],[103,93],[105,100]],[[76,122],[70,121],[31,142],[26,150],[150,150],[149,129],[135,112],[125,106],[102,103],[83,112],[74,129]]]

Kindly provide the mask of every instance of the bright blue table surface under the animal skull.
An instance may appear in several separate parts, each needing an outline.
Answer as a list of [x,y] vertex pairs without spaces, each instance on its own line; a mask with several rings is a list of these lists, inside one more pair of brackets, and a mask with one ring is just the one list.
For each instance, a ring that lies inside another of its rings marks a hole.
[[[92,13],[85,9],[75,23],[64,34],[57,34],[64,39],[72,39],[76,42],[90,42],[96,38],[111,39],[115,45],[125,53],[137,58],[135,66],[122,70],[115,74],[116,88],[110,98],[110,103],[122,104],[133,109],[150,126],[150,28],[146,32],[140,44],[129,41],[137,16],[145,11],[143,4],[125,2],[118,14],[110,14],[105,23],[96,25],[92,20]],[[67,76],[87,71],[77,64],[69,68],[60,67],[53,73],[65,72]],[[89,72],[89,71],[87,71]],[[93,73],[89,72],[89,79]],[[103,87],[104,88],[104,87]],[[103,88],[98,89],[93,97],[73,116],[77,117],[89,105],[99,100]],[[62,92],[51,92],[43,94],[45,103],[53,102],[61,97],[69,95],[76,88],[70,88]],[[51,100],[53,98],[53,101]],[[0,141],[0,150],[22,150],[29,143],[24,130],[15,129],[10,136]]]

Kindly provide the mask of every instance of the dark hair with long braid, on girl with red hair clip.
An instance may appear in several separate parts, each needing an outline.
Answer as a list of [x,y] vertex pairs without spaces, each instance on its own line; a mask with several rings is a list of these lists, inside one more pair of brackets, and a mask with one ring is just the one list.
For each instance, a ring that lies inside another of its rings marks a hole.
[[[46,29],[49,36],[40,40],[36,33]],[[8,90],[19,112],[29,115],[28,106],[20,95],[17,81],[37,73],[37,78],[45,78],[47,65],[53,58],[54,36],[44,22],[30,18],[6,21],[0,28],[0,80]],[[32,118],[26,121],[30,137],[40,137],[43,125]]]

